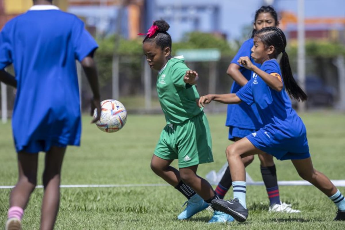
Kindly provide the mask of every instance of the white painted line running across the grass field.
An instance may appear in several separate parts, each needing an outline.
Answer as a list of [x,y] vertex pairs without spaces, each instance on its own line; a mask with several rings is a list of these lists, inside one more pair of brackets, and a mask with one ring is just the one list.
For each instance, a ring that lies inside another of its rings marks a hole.
[[[345,180],[331,180],[336,187],[345,187]],[[247,182],[247,185],[264,185],[263,181],[257,182]],[[291,180],[291,181],[278,181],[278,185],[281,186],[299,186],[299,185],[312,185],[305,180]],[[169,184],[66,184],[61,185],[60,188],[114,188],[114,187],[159,187],[159,186],[169,186]],[[13,185],[0,186],[0,189],[11,189]],[[38,185],[36,188],[43,188],[43,186]]]

